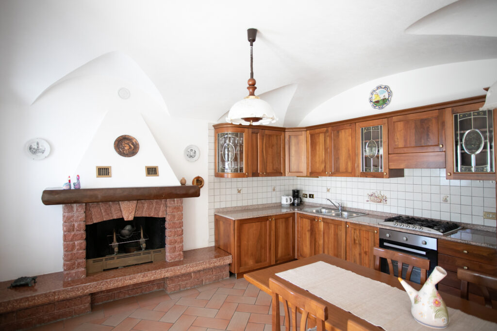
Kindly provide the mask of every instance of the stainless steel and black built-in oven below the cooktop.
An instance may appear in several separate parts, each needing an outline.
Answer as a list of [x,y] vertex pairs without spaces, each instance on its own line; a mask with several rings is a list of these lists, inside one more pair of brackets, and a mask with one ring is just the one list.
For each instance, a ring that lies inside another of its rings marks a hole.
[[[428,275],[431,274],[431,271],[433,271],[437,265],[436,238],[380,228],[380,247],[429,260],[430,268],[428,270]],[[398,277],[397,261],[392,261],[392,265],[394,267],[394,274]],[[381,259],[380,267],[382,272],[390,273],[386,259]],[[408,265],[402,266],[402,278],[406,278],[407,269]],[[410,280],[418,284],[421,282],[421,270],[418,267],[413,268]]]

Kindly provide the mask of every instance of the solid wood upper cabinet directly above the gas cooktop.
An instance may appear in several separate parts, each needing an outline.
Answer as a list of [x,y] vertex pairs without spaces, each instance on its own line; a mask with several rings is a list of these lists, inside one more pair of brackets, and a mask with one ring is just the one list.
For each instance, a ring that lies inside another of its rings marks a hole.
[[444,168],[444,110],[390,117],[389,164],[391,168]]

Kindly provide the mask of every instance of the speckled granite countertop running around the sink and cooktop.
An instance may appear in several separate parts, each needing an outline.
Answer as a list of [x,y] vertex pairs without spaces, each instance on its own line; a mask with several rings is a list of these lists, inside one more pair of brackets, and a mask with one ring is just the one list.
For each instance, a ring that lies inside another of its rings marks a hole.
[[[279,214],[299,212],[302,214],[307,214],[307,215],[312,215],[312,216],[321,216],[321,217],[343,220],[343,221],[347,221],[350,223],[372,225],[372,226],[377,226],[380,228],[385,228],[385,229],[390,229],[390,230],[393,230],[394,228],[392,228],[390,226],[382,225],[379,223],[383,222],[385,220],[385,218],[387,218],[387,217],[392,217],[392,216],[397,215],[397,214],[371,211],[371,210],[346,208],[346,211],[362,212],[362,213],[367,213],[367,215],[357,216],[357,217],[352,217],[352,218],[342,218],[342,217],[337,217],[337,216],[329,216],[326,214],[318,214],[318,213],[314,213],[314,212],[310,212],[310,211],[305,211],[305,209],[310,209],[313,207],[330,208],[330,206],[328,206],[328,205],[324,206],[324,205],[320,205],[320,204],[309,204],[309,203],[304,204],[304,205],[300,205],[300,206],[289,206],[289,207],[283,207],[279,203],[268,203],[268,204],[261,204],[261,205],[218,208],[214,211],[214,214],[235,220],[235,219],[263,217],[263,216],[270,216],[270,215],[279,215]],[[448,235],[448,236],[420,232],[417,230],[400,229],[400,228],[395,228],[395,230],[407,232],[407,233],[414,233],[414,234],[423,235],[423,236],[432,237],[432,238],[437,238],[437,239],[444,239],[444,240],[455,241],[455,242],[459,242],[459,243],[465,243],[465,244],[471,244],[471,245],[477,245],[477,246],[483,246],[483,247],[497,249],[496,228],[493,228],[490,226],[468,224],[468,223],[458,223],[458,222],[453,222],[453,223],[460,224],[463,227],[463,229],[459,230],[458,232],[456,232],[454,234]]]

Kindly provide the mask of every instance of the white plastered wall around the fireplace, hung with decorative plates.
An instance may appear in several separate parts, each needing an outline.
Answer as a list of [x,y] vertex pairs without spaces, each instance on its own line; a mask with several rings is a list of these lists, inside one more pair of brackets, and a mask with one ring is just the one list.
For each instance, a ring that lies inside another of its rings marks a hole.
[[[131,91],[127,100],[120,99],[117,94],[123,86]],[[133,135],[129,131],[133,131],[136,124],[139,154],[143,151],[144,163],[138,173],[127,172],[127,178],[121,177],[122,182],[115,181],[107,187],[164,185],[161,176],[145,177],[145,165],[159,165],[159,174],[162,175],[163,170],[166,173],[164,156],[176,180],[185,177],[191,183],[195,176],[202,176],[208,181],[207,123],[171,119],[163,106],[122,79],[81,76],[54,86],[33,106],[7,102],[2,100],[0,104],[0,137],[3,141],[0,281],[62,270],[62,206],[42,204],[41,194],[45,188],[61,187],[68,175],[75,178],[78,173],[94,174],[96,165],[110,165],[114,174],[120,172],[115,171],[118,169],[132,170],[129,161],[133,158],[102,160],[99,158],[105,157],[106,153],[100,151],[93,154],[96,155],[93,161],[83,157],[106,114],[122,114],[122,121],[126,123],[126,132],[122,134]],[[140,115],[145,126],[138,123]],[[122,121],[108,130],[118,132],[124,126]],[[151,133],[147,133],[147,126]],[[24,144],[34,137],[44,138],[51,145],[51,153],[46,159],[35,161],[24,153]],[[154,150],[156,141],[158,147]],[[189,144],[200,148],[200,158],[196,162],[188,162],[183,156],[183,150]],[[102,141],[102,148],[114,156],[113,142],[108,145],[109,141]],[[159,155],[161,151],[164,156]],[[87,156],[91,157],[91,153]],[[88,177],[81,176],[82,188],[94,183],[95,179]],[[207,196],[207,190],[202,189],[199,198],[183,200],[185,249],[208,246]]]

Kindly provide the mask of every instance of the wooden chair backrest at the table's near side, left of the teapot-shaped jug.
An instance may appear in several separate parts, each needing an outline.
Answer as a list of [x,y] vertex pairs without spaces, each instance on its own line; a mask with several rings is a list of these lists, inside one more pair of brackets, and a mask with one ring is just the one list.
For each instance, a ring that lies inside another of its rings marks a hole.
[[280,297],[285,309],[286,330],[290,330],[290,321],[293,330],[297,330],[297,311],[302,314],[300,330],[305,331],[307,320],[312,315],[316,318],[317,330],[325,331],[325,321],[328,319],[328,307],[311,299],[308,296],[295,293],[274,278],[269,278],[269,288],[272,291],[272,330],[280,331]]

